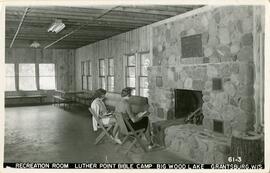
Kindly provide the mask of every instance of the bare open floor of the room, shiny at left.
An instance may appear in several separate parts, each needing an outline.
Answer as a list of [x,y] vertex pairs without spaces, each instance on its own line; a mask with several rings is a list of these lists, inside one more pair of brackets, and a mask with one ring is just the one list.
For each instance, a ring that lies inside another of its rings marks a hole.
[[187,163],[166,150],[124,155],[109,141],[94,145],[96,136],[86,107],[5,108],[4,162]]

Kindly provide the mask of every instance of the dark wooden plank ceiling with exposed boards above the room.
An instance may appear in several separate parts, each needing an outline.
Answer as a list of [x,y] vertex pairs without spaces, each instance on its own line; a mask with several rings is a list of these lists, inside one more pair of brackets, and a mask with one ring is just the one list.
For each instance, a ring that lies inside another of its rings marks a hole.
[[[37,41],[40,48],[75,49],[199,7],[201,6],[9,6],[6,7],[5,42],[6,47],[10,47],[15,37],[11,46],[13,48],[30,48],[30,44]],[[47,32],[55,19],[61,19],[66,27],[57,34]]]

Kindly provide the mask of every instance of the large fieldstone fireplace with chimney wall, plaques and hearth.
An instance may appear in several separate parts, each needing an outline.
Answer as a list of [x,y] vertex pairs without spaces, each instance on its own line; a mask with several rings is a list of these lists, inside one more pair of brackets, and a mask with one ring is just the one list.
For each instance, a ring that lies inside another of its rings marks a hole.
[[167,148],[194,162],[224,163],[233,132],[253,130],[252,28],[250,6],[209,8],[153,27],[152,115],[174,120],[201,107],[204,116],[202,125],[166,127]]

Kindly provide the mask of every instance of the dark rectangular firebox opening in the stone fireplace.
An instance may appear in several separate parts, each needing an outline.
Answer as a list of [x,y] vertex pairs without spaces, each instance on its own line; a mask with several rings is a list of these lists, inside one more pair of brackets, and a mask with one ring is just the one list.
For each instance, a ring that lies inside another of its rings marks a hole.
[[[187,118],[192,113],[201,113],[202,91],[175,89],[175,119]],[[195,116],[193,118],[196,118]],[[193,122],[195,123],[195,122]]]

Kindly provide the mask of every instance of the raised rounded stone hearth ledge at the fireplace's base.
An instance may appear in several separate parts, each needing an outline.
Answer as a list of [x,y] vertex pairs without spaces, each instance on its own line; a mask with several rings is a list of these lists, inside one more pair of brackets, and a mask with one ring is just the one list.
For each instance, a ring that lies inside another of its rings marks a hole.
[[170,126],[165,129],[165,145],[181,157],[198,163],[226,163],[230,138],[194,124]]

